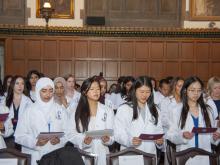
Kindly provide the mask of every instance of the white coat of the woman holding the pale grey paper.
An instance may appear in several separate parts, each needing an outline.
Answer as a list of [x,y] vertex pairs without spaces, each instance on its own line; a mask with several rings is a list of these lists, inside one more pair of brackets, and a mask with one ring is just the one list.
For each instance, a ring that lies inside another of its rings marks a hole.
[[[101,103],[98,103],[94,130],[113,129],[113,122],[113,110]],[[98,156],[97,165],[105,165],[106,154],[109,153],[108,145],[111,145],[114,142],[114,138],[110,137],[110,141],[106,144],[103,144],[101,139],[93,139],[90,145],[86,145],[84,144],[85,133],[78,133],[76,131],[75,113],[71,116],[69,127],[70,126],[69,141],[87,152],[96,154]]]

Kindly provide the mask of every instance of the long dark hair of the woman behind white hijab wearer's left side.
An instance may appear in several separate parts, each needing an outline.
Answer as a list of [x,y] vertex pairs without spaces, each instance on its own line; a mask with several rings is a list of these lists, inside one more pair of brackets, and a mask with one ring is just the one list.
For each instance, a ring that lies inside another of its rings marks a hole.
[[[12,102],[13,102],[13,98],[14,98],[14,86],[15,86],[15,83],[16,83],[16,80],[18,78],[21,78],[24,80],[24,78],[22,76],[19,76],[19,75],[16,75],[14,77],[12,77],[12,80],[11,80],[11,84],[8,88],[8,94],[7,94],[7,97],[6,97],[6,106],[8,108],[10,108]],[[24,81],[24,91],[25,91],[25,81]]]

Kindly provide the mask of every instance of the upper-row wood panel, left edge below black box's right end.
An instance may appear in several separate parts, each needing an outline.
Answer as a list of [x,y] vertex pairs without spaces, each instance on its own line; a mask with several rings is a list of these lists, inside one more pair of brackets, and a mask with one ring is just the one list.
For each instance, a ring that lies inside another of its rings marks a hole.
[[105,41],[105,58],[119,58],[119,44],[117,41]]

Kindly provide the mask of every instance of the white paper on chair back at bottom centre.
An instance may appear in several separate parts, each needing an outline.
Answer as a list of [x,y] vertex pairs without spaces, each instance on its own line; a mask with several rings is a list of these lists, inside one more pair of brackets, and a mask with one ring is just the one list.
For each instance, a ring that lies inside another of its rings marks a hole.
[[144,165],[143,155],[119,156],[119,165]]

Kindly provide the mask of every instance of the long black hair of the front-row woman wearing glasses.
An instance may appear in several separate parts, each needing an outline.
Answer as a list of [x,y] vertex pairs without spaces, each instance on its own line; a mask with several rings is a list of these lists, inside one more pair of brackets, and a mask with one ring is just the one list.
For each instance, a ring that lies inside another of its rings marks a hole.
[[[187,89],[189,88],[189,86],[192,83],[198,82],[201,85],[202,90],[204,90],[204,84],[203,82],[196,76],[192,76],[187,78],[184,81],[183,87],[181,89],[181,100],[183,103],[183,108],[182,108],[182,112],[181,112],[181,116],[180,116],[180,128],[183,129],[185,127],[186,124],[186,118],[189,112],[189,105],[188,105],[188,98],[187,98]],[[198,105],[201,107],[201,112],[203,115],[203,118],[205,120],[205,124],[206,127],[211,127],[211,121],[209,118],[209,114],[208,114],[208,110],[209,110],[209,106],[205,104],[204,99],[203,99],[203,93],[201,93],[199,99],[197,100]]]

